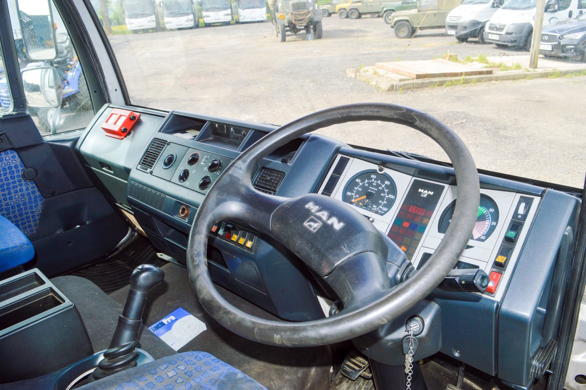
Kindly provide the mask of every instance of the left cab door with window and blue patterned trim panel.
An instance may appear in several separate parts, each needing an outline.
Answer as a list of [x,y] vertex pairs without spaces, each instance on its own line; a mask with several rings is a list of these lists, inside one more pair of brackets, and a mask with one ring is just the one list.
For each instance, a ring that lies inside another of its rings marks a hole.
[[128,233],[75,150],[105,95],[62,3],[0,1],[0,215],[35,247],[25,267],[49,277],[100,259]]

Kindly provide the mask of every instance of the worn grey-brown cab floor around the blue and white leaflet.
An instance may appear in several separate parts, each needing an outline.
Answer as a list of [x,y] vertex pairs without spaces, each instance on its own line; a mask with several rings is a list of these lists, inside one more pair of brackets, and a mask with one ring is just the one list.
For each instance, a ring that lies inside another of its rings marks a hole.
[[[185,268],[171,263],[161,268],[165,272],[165,280],[149,293],[143,315],[145,325],[150,326],[182,307],[207,326],[206,331],[188,342],[179,352],[209,352],[270,390],[328,388],[331,379],[331,352],[328,347],[271,347],[240,337],[217,323],[200,306]],[[217,288],[224,298],[241,310],[258,317],[277,319],[230,291]],[[123,304],[127,291],[128,287],[125,287],[110,296]]]

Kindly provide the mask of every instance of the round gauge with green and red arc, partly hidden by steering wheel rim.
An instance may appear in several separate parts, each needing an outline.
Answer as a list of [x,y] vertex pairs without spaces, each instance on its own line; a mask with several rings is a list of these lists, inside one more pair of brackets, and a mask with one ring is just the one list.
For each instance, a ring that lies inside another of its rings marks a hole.
[[[449,223],[452,222],[452,215],[454,214],[454,208],[456,201],[445,208],[440,217],[440,223],[438,225],[438,231],[445,233],[448,230]],[[495,231],[496,224],[499,223],[499,208],[495,201],[488,195],[480,195],[480,206],[478,206],[478,216],[476,217],[476,224],[474,230],[472,230],[471,240],[485,242],[490,237],[492,232]]]

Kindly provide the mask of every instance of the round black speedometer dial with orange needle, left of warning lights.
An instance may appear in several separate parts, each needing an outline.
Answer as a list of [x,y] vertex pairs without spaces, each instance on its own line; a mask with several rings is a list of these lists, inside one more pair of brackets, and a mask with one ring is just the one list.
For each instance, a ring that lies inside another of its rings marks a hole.
[[362,171],[347,182],[344,202],[378,215],[386,214],[397,198],[397,187],[387,174]]

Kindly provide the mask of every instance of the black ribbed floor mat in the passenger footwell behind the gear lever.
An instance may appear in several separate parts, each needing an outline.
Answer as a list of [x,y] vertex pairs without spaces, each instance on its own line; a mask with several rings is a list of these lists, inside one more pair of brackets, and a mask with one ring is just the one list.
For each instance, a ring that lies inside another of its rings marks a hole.
[[156,256],[155,249],[147,239],[137,236],[107,259],[68,274],[91,280],[104,293],[109,294],[130,284],[130,274],[140,264],[154,264],[161,267],[166,262]]

